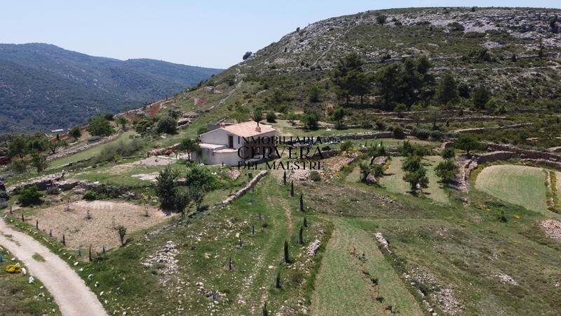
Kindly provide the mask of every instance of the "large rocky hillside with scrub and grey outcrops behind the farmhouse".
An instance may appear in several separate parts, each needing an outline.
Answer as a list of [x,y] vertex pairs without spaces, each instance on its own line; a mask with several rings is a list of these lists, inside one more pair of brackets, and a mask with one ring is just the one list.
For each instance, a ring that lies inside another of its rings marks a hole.
[[[506,109],[552,106],[548,100],[561,97],[557,16],[560,10],[539,8],[408,8],[330,18],[285,35],[183,98],[201,108],[224,106],[230,114],[236,107],[264,105],[280,113],[315,110],[326,119],[343,103],[332,70],[340,58],[357,53],[366,74],[403,67],[407,58],[428,58],[424,85],[412,87],[408,109],[445,106],[435,98],[445,74],[463,89],[447,107],[473,107],[473,94],[482,87]],[[388,110],[377,102],[384,93],[379,82],[369,84],[364,104],[351,98],[348,105],[359,113],[356,119]]]

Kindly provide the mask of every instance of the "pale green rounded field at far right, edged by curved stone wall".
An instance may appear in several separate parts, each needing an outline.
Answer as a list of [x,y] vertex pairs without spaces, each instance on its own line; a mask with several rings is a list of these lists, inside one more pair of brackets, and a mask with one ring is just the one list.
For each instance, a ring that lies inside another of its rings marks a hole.
[[546,173],[532,166],[495,165],[483,169],[475,188],[532,211],[550,214],[546,209]]

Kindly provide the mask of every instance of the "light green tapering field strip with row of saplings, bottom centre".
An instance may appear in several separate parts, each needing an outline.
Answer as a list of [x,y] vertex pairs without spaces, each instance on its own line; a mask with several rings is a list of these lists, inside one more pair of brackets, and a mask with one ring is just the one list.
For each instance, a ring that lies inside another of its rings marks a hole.
[[[333,218],[334,231],[325,251],[322,267],[312,298],[313,315],[386,315],[391,305],[398,315],[423,315],[415,298],[377,248],[376,242],[364,230]],[[351,249],[356,247],[356,256]],[[358,256],[365,254],[363,263]],[[363,270],[379,279],[376,301],[372,280]]]

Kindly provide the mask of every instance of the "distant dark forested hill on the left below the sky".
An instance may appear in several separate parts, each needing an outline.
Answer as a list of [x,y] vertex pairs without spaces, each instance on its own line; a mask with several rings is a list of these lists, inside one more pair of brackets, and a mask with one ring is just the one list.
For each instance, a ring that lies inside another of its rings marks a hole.
[[64,129],[97,112],[171,96],[220,71],[94,57],[49,44],[0,44],[0,133]]

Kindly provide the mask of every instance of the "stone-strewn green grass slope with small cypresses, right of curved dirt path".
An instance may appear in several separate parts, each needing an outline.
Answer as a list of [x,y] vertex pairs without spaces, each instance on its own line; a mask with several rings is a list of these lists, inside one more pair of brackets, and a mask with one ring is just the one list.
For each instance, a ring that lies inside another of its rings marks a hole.
[[[177,314],[183,308],[184,312],[199,315],[212,310],[217,314],[249,315],[260,312],[264,299],[273,312],[283,310],[283,306],[297,308],[298,298],[308,293],[306,284],[313,283],[306,271],[313,270],[318,262],[306,261],[304,249],[296,243],[303,214],[295,211],[297,199],[289,199],[288,190],[272,176],[266,176],[255,192],[248,192],[231,206],[199,213],[188,223],[172,225],[149,239],[141,237],[126,247],[111,250],[107,260],[89,263],[79,274],[96,294],[104,291],[100,299],[109,301],[107,310],[119,313],[128,310]],[[306,244],[327,237],[327,225],[313,214],[308,216]],[[236,247],[237,234],[243,241],[242,248]],[[162,275],[161,269],[140,265],[169,240],[179,250],[175,275]],[[291,266],[298,267],[296,270],[283,264],[285,240],[290,244],[290,256],[295,261]],[[230,257],[233,271],[224,269]],[[283,284],[280,290],[274,288],[279,270]],[[88,279],[90,274],[94,276]],[[100,286],[93,287],[95,282]],[[206,291],[219,291],[229,301],[219,298],[219,304],[213,305],[205,297]]]

